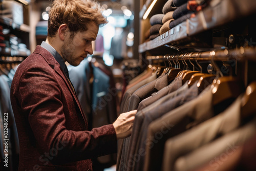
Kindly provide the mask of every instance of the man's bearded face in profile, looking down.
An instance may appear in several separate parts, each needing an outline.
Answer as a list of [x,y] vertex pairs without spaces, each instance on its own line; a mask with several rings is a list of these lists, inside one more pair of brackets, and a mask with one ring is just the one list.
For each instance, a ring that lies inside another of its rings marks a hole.
[[78,31],[74,37],[70,37],[69,32],[61,47],[63,59],[72,66],[78,66],[88,54],[93,54],[92,41],[96,39],[98,31],[99,27],[91,23],[87,31]]

